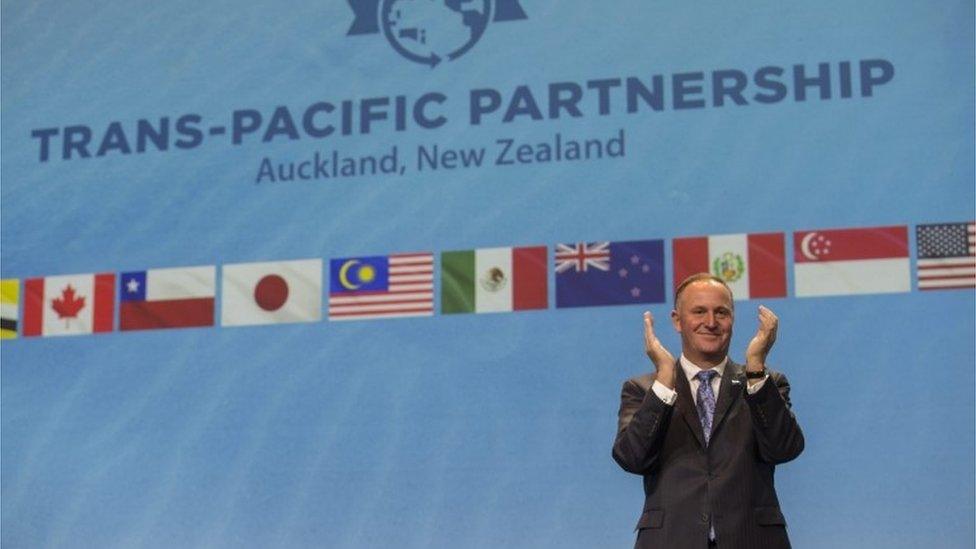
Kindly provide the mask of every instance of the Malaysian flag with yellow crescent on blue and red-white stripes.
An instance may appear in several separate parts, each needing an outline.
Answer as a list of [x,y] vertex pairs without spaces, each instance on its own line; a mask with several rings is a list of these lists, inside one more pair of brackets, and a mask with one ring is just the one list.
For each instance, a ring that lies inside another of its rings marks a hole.
[[332,259],[329,267],[329,320],[434,314],[430,252]]

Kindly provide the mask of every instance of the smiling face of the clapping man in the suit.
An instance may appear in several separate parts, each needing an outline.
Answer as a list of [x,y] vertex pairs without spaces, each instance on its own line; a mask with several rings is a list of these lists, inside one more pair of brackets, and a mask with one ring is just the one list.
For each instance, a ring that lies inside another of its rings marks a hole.
[[699,366],[715,366],[732,341],[732,296],[717,282],[693,282],[681,292],[671,323],[681,334],[681,352]]

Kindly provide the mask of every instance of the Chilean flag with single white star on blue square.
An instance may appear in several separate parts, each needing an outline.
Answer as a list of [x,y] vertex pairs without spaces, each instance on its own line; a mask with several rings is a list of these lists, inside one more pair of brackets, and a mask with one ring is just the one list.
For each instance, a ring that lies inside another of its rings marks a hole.
[[119,330],[214,325],[216,267],[120,273]]

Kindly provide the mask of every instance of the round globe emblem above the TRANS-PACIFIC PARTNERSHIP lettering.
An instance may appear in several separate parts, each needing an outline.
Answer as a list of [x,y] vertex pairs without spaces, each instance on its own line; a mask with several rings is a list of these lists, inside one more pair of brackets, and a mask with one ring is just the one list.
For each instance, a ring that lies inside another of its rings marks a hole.
[[382,0],[379,24],[397,53],[433,68],[470,50],[491,17],[491,0]]

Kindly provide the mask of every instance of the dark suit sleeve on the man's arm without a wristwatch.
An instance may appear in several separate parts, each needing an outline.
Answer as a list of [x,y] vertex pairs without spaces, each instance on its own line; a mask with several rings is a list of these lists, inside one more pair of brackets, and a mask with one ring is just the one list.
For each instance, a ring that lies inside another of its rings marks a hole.
[[633,379],[624,382],[617,414],[613,459],[625,471],[642,475],[656,464],[674,406]]

